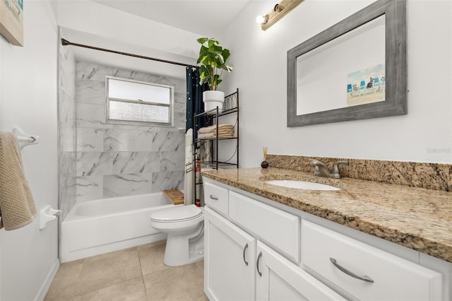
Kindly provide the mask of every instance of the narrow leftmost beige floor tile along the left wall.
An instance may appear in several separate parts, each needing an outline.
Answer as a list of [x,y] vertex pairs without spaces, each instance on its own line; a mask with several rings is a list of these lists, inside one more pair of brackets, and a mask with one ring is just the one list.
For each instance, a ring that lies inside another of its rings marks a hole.
[[71,300],[76,294],[82,264],[61,264],[45,300]]

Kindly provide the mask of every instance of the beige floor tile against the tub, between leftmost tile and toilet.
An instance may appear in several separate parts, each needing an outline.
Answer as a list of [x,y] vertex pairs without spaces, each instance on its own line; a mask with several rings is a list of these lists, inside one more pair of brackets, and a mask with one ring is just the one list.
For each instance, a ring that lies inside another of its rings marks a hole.
[[110,285],[141,277],[138,250],[129,249],[96,260],[85,260],[76,295],[85,295]]

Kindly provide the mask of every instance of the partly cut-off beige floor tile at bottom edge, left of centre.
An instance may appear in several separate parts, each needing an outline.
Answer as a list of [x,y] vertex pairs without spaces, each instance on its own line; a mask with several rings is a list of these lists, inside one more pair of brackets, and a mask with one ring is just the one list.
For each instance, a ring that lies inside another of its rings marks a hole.
[[139,277],[130,281],[111,285],[107,288],[95,290],[86,295],[77,296],[73,301],[132,301],[146,300],[146,291],[144,288],[143,277]]

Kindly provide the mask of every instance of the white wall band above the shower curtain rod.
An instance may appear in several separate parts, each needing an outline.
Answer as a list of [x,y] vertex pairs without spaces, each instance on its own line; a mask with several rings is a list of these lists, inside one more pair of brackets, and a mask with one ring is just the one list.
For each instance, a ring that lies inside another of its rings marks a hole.
[[[118,11],[93,1],[58,1],[54,8],[57,11],[58,24],[65,28],[135,45],[138,49],[141,47],[148,47],[148,50],[155,49],[158,51],[159,59],[172,59],[174,55],[198,57],[199,48],[196,39],[200,36],[194,33]],[[168,16],[170,18],[170,13]],[[105,39],[97,41],[97,43],[104,42]],[[128,52],[128,49],[115,50]],[[149,56],[152,57],[152,55]],[[188,63],[195,64],[196,61]]]

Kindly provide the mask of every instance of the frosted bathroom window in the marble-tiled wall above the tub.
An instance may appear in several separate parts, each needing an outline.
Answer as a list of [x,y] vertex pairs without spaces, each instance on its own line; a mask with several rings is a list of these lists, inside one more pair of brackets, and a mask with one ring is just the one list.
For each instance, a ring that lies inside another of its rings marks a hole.
[[107,122],[172,126],[174,88],[107,76]]

